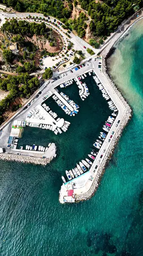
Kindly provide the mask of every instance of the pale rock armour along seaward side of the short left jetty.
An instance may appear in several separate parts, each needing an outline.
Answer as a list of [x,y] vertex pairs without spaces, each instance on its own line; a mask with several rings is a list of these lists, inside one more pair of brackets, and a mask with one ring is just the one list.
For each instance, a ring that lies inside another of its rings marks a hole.
[[32,163],[32,164],[40,164],[42,166],[46,166],[53,157],[50,158],[37,158],[37,157],[29,157],[29,156],[22,156],[22,155],[14,155],[14,154],[0,154],[0,160],[6,161],[15,161],[19,163]]

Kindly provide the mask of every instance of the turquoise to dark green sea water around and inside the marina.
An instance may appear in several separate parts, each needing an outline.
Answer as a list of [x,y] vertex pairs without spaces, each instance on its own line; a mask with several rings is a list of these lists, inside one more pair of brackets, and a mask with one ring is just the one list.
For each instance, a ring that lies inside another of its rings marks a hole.
[[[94,134],[109,115],[91,78],[86,81],[91,95],[85,102],[76,98],[75,85],[64,90],[80,105],[75,117],[64,114],[71,120],[65,134],[34,128],[30,135],[30,128],[24,131],[23,145],[56,143],[57,158],[50,165],[0,162],[0,255],[143,255],[142,31],[140,21],[109,58],[110,73],[132,106],[133,117],[93,198],[67,205],[58,200],[61,175],[87,156]],[[55,103],[48,101],[56,110]],[[58,111],[61,116],[62,110]]]

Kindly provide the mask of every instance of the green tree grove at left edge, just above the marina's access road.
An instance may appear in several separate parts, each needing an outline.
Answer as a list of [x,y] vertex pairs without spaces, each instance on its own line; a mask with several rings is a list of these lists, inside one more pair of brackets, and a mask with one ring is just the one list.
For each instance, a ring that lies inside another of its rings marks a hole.
[[39,80],[36,77],[31,78],[28,73],[0,79],[0,89],[9,91],[8,96],[0,101],[0,116],[17,97],[29,98],[38,87]]

